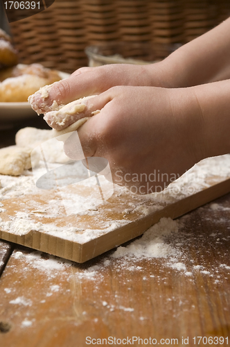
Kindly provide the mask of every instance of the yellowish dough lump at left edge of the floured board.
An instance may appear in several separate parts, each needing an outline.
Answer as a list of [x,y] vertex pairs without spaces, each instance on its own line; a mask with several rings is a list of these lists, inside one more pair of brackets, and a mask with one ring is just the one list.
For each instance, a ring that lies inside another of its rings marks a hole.
[[19,176],[25,169],[30,169],[30,153],[31,149],[17,146],[0,149],[0,174]]

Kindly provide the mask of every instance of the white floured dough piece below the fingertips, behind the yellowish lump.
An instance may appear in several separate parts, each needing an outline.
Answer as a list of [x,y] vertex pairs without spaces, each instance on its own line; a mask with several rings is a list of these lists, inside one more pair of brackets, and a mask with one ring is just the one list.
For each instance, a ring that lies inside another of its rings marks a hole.
[[43,144],[44,155],[47,162],[58,162],[65,164],[69,162],[69,158],[64,153],[63,144],[53,139],[52,130],[44,130],[37,128],[22,128],[20,129],[15,137],[17,146],[30,147],[30,151]]

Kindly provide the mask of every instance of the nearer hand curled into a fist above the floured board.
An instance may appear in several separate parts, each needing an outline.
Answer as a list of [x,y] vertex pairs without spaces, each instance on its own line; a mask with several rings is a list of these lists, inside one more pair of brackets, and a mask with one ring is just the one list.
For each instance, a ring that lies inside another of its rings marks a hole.
[[[85,157],[109,161],[114,183],[152,193],[204,158],[202,117],[191,88],[117,86],[90,102],[91,110],[100,113],[78,136]],[[73,133],[64,151],[78,160],[75,139]]]

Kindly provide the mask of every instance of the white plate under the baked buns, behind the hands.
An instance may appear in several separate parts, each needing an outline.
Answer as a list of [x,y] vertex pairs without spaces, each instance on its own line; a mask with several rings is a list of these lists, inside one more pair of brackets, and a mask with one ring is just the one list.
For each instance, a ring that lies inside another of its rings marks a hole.
[[[58,71],[62,79],[68,78],[70,74]],[[10,121],[35,117],[37,113],[28,102],[24,103],[0,103],[0,123],[7,124]]]

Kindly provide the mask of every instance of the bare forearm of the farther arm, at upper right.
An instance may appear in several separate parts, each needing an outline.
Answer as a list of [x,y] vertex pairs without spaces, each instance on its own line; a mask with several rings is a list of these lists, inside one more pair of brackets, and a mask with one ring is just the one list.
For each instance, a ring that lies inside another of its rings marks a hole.
[[230,78],[230,18],[150,68],[159,85],[190,87]]

